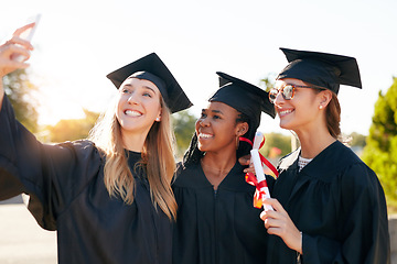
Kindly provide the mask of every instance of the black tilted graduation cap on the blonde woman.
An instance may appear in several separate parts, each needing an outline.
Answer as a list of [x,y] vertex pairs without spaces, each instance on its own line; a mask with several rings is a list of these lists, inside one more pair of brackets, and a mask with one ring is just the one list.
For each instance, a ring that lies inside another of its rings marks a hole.
[[159,88],[172,113],[193,106],[176,79],[155,53],[130,63],[108,74],[106,77],[111,80],[117,89],[128,77],[152,81]]

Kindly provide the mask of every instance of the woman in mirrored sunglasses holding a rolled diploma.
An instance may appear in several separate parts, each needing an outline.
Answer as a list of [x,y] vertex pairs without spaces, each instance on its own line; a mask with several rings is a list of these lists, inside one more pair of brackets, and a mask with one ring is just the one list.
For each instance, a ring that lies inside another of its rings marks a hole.
[[270,263],[389,263],[387,208],[375,173],[339,141],[340,85],[361,88],[355,58],[281,48],[269,92],[301,146],[283,157],[265,204]]

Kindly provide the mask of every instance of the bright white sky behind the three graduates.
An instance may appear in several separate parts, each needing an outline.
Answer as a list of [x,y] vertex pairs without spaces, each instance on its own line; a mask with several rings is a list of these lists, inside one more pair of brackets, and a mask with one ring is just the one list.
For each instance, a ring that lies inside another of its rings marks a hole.
[[[279,47],[356,57],[363,90],[342,87],[342,131],[368,134],[378,91],[397,76],[395,0],[13,0],[1,7],[0,38],[42,19],[31,76],[40,122],[104,111],[108,73],[151,52],[164,61],[198,116],[221,70],[255,85],[286,65]],[[286,133],[262,114],[261,131]]]

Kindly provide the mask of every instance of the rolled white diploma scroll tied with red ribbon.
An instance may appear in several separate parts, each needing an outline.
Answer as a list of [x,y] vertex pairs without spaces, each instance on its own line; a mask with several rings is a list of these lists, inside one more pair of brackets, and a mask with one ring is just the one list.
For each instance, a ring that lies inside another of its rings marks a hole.
[[[265,136],[260,132],[256,132],[254,143],[251,143],[248,139],[240,138],[240,140],[248,142],[253,145],[251,153],[251,162],[254,163],[254,168],[256,176],[251,173],[246,174],[246,182],[256,187],[254,195],[254,207],[261,208],[264,206],[262,201],[265,198],[270,198],[269,188],[266,182],[266,176],[264,174],[262,164],[266,164],[278,177],[278,172],[275,166],[271,165],[269,161],[267,161],[260,153],[259,148],[265,144]],[[273,210],[271,206],[264,206],[265,210]]]

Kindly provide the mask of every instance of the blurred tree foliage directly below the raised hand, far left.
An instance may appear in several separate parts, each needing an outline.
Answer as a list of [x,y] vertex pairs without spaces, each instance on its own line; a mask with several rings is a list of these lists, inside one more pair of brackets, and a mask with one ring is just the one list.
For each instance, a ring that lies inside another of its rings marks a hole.
[[37,131],[37,87],[30,80],[25,69],[18,69],[3,78],[6,95],[11,101],[15,118],[31,132]]

